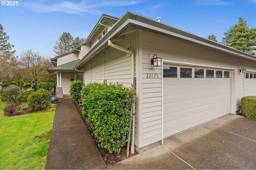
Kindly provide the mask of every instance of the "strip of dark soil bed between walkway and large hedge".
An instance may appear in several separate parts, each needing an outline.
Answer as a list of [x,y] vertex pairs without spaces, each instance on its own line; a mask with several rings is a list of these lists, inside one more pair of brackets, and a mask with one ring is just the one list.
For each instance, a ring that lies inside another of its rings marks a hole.
[[[83,117],[82,115],[82,110],[81,110],[81,107],[76,105],[76,109],[78,110],[82,120],[84,121],[84,124],[86,125],[89,133],[91,134],[91,137],[95,143],[95,145],[97,146],[98,150],[100,151],[100,154],[102,155],[102,158],[105,160],[106,164],[107,165],[112,165],[112,164],[115,164],[116,162],[119,162],[120,160],[118,160],[118,154],[117,153],[109,153],[108,150],[100,147],[99,143],[98,143],[98,140],[97,138],[95,137],[94,133],[93,133],[93,130],[91,128],[91,126],[86,122],[86,119],[85,117]],[[120,157],[121,157],[121,160],[125,160],[127,158],[130,158],[132,156],[135,156],[136,154],[138,154],[135,150],[134,154],[131,154],[131,152],[129,152],[129,156],[126,157],[126,148],[127,147],[122,147],[121,148],[121,152],[120,152]]]

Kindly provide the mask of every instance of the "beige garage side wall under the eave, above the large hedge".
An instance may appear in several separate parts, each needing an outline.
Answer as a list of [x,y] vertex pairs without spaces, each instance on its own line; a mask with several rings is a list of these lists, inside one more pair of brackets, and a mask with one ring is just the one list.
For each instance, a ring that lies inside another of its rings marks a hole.
[[[116,43],[121,47],[126,47],[127,43],[131,42],[131,49],[135,50],[136,34],[131,33],[126,35],[125,41]],[[132,84],[132,57],[127,53],[109,47],[108,50],[100,53],[89,62],[84,64],[84,80],[85,84],[90,82],[102,83],[107,80],[108,83],[120,83],[131,88]]]

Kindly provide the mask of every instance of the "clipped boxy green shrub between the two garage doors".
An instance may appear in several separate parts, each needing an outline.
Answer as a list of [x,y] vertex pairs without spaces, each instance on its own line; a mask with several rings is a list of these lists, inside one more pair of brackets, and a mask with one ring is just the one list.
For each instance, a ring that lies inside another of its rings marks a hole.
[[256,118],[256,96],[246,96],[241,99],[242,114]]

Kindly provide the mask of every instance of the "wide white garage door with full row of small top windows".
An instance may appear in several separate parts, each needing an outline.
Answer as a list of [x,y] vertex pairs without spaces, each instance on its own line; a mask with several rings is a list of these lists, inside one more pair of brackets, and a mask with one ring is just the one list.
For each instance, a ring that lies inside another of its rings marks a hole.
[[230,113],[230,70],[164,66],[164,138]]

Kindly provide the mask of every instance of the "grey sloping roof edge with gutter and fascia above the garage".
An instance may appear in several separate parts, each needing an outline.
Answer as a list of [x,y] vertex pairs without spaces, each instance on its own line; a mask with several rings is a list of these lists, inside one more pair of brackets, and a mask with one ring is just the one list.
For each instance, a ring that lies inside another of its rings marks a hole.
[[[108,47],[109,39],[113,40],[118,35],[120,35],[122,32],[124,32],[125,30],[128,30],[131,27],[144,29],[147,31],[159,33],[159,34],[177,38],[177,39],[182,39],[182,40],[188,41],[190,43],[196,43],[203,47],[213,49],[215,51],[220,51],[222,53],[228,53],[230,55],[234,55],[234,56],[241,57],[244,59],[256,61],[256,57],[254,55],[250,55],[248,53],[244,53],[237,49],[228,47],[226,45],[216,43],[209,39],[199,37],[192,33],[188,33],[186,31],[172,27],[170,25],[166,25],[166,24],[158,22],[156,20],[152,20],[150,18],[146,18],[144,16],[140,16],[140,15],[132,13],[132,12],[126,12],[126,14],[124,14],[124,16],[122,16],[122,18],[120,18],[115,23],[115,25],[112,27],[112,29],[110,29],[108,31],[108,33],[106,33],[106,35],[104,37],[102,37],[102,39],[100,39],[100,41],[98,41],[98,43],[94,47],[92,47],[92,49],[90,49],[90,51],[81,59],[81,61],[78,64],[76,64],[74,69],[82,66],[82,64],[84,64],[88,60],[90,60],[101,49]],[[95,29],[95,27],[94,27],[94,29]]]

